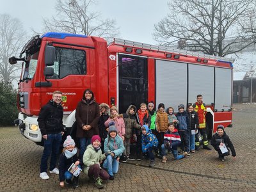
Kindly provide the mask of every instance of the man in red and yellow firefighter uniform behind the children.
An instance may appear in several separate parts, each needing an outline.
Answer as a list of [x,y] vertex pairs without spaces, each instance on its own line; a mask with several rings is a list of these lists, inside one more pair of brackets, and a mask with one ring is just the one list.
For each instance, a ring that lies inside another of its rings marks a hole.
[[[206,119],[205,115],[207,113],[205,104],[203,102],[203,96],[202,95],[197,95],[196,96],[196,102],[193,104],[194,110],[198,113],[198,122],[199,122],[199,131],[202,136],[203,140],[203,148],[207,150],[211,150],[211,148],[208,147],[208,139],[207,139],[207,134],[206,134]],[[199,141],[199,136],[198,133],[196,134],[196,141],[195,141],[195,150],[199,150],[200,147],[200,141]]]

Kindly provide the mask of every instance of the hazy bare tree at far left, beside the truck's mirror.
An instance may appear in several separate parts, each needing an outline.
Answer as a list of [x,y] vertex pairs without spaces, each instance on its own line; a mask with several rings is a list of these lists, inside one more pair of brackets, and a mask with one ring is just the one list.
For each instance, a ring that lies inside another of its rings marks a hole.
[[19,19],[0,15],[0,76],[5,83],[13,83],[17,79],[20,65],[10,65],[8,58],[20,51],[25,34]]

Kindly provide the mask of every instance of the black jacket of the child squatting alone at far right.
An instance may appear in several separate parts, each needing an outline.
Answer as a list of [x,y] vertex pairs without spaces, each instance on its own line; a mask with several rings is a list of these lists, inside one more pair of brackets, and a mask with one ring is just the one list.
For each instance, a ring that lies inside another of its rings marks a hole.
[[230,141],[226,132],[223,132],[223,136],[220,136],[217,132],[212,136],[211,145],[215,147],[219,147],[220,143],[224,143],[226,147],[230,148],[232,156],[236,157],[236,150],[234,148],[233,143]]

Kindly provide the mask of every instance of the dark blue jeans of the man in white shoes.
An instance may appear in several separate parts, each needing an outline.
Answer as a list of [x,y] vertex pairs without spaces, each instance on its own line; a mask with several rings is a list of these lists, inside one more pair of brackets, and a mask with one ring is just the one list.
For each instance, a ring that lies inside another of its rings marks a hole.
[[47,161],[51,156],[50,171],[56,167],[57,157],[60,152],[62,141],[61,133],[47,134],[47,140],[44,140],[44,152],[41,159],[40,172],[47,172]]

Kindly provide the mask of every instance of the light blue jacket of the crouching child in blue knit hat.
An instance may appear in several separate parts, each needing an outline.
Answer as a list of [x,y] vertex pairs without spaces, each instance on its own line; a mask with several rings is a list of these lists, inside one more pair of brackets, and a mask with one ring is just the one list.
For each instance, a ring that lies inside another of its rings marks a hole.
[[111,138],[108,134],[108,138],[104,141],[104,152],[108,151],[113,152],[115,158],[122,156],[124,152],[124,142],[118,134],[116,134],[115,138]]

